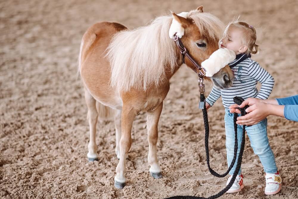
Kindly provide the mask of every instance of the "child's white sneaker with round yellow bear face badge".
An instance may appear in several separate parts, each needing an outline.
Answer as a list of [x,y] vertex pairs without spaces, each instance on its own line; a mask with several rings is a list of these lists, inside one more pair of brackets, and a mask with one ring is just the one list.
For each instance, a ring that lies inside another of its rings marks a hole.
[[281,177],[279,175],[279,172],[266,173],[265,178],[266,178],[266,187],[265,187],[266,195],[273,195],[280,192]]

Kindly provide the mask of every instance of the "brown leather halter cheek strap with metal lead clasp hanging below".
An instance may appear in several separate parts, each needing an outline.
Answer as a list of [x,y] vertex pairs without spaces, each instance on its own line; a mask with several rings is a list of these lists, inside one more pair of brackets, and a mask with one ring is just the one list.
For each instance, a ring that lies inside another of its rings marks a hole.
[[[195,73],[198,74],[198,84],[199,84],[199,93],[200,96],[204,96],[204,100],[202,101],[201,99],[203,98],[199,98],[199,109],[204,109],[205,107],[205,84],[203,84],[204,81],[204,76],[206,75],[206,70],[201,67],[200,64],[198,64],[193,57],[187,52],[186,48],[184,47],[181,39],[176,35],[176,33],[174,34],[174,41],[177,44],[177,47],[180,50],[180,53],[182,55],[182,63],[185,64],[185,56],[191,61],[191,63],[193,63],[193,65],[198,69],[199,72],[197,72],[196,70],[193,70]],[[193,69],[193,68],[192,68]]]

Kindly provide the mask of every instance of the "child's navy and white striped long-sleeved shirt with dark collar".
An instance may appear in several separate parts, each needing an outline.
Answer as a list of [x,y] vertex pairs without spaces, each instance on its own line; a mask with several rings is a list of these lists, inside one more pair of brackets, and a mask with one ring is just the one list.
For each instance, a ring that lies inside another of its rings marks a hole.
[[[233,85],[228,89],[213,87],[206,102],[212,106],[221,96],[222,103],[226,109],[235,104],[235,96],[247,98],[267,99],[274,86],[273,77],[256,61],[251,55],[239,54],[229,66],[234,73]],[[262,84],[260,91],[257,90],[257,82]]]

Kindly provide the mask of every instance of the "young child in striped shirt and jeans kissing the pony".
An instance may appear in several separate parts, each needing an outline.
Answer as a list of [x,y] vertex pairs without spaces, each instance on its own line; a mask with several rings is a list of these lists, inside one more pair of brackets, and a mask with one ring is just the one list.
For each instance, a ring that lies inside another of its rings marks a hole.
[[[256,30],[251,25],[237,20],[228,24],[224,31],[224,37],[220,41],[221,48],[233,50],[236,53],[236,59],[232,61],[229,66],[234,72],[233,86],[229,89],[218,89],[213,87],[208,98],[206,99],[206,108],[210,108],[216,100],[221,96],[225,107],[225,130],[226,130],[226,151],[228,166],[231,164],[234,155],[234,123],[233,114],[229,112],[229,106],[234,104],[233,97],[239,96],[244,99],[260,98],[267,99],[273,89],[273,77],[262,67],[259,63],[252,60],[250,57],[258,51],[256,44]],[[257,81],[262,86],[260,91],[257,90]],[[242,126],[238,124],[238,151],[237,159],[240,152]],[[280,191],[281,178],[277,171],[274,154],[269,146],[267,137],[267,119],[260,121],[250,127],[246,127],[246,132],[249,137],[254,153],[259,156],[266,172],[266,195],[273,195]],[[229,172],[231,175],[227,181],[230,182],[235,171],[236,162]],[[244,187],[243,175],[241,169],[238,176],[227,191],[227,193],[240,192]]]

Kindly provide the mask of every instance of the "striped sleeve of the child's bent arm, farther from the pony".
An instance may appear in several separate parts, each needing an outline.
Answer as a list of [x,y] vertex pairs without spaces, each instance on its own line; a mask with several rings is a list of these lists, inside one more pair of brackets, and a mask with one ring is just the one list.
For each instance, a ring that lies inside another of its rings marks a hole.
[[274,78],[270,75],[270,73],[260,67],[260,64],[257,62],[249,66],[247,73],[250,77],[262,84],[256,98],[268,99],[274,86]]

